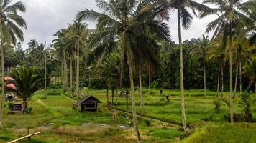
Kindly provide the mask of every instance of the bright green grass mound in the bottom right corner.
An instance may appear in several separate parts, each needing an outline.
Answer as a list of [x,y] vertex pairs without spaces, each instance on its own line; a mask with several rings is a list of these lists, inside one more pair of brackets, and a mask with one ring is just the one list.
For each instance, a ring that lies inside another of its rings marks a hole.
[[254,143],[256,142],[256,124],[211,124],[203,129],[198,129],[183,143]]

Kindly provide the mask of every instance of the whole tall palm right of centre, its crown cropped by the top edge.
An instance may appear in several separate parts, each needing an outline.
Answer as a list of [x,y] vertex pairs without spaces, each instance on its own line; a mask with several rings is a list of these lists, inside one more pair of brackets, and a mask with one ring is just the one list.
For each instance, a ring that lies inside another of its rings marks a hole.
[[196,1],[192,0],[174,0],[168,1],[165,3],[166,9],[163,9],[164,12],[162,16],[168,19],[169,17],[166,16],[168,9],[176,9],[178,11],[178,41],[179,41],[179,49],[180,49],[180,94],[181,94],[181,115],[182,115],[182,122],[183,122],[183,129],[184,132],[188,133],[188,127],[186,124],[186,114],[185,114],[185,102],[184,102],[184,80],[183,80],[183,43],[182,43],[182,36],[181,36],[181,24],[184,29],[188,29],[191,25],[193,20],[193,16],[188,12],[188,9],[193,11],[193,14],[196,14],[197,11],[207,11],[211,14],[212,10],[205,6],[204,4],[200,4]]

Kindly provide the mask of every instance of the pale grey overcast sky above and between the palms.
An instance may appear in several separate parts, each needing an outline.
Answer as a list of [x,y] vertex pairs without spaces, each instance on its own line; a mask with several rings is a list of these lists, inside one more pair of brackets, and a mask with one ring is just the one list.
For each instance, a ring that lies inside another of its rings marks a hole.
[[[18,1],[18,0],[15,0]],[[27,30],[24,30],[24,48],[31,39],[37,39],[39,42],[47,41],[50,44],[54,39],[53,34],[58,29],[68,27],[75,18],[78,11],[85,8],[94,9],[96,3],[94,0],[19,0],[24,2],[27,8],[24,19],[27,21]],[[183,41],[193,37],[202,36],[205,34],[206,25],[214,20],[214,16],[209,16],[204,19],[197,19],[194,17],[191,28],[183,31]],[[88,21],[89,27],[93,27],[93,23]],[[177,13],[173,11],[171,19],[168,21],[170,26],[170,34],[173,41],[178,41],[178,24]],[[211,36],[211,35],[209,35]]]

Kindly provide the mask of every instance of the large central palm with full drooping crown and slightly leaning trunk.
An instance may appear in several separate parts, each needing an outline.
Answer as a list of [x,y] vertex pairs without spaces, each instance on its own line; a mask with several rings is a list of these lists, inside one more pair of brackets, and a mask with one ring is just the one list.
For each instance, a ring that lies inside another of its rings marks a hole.
[[[78,13],[77,18],[97,22],[96,30],[88,46],[93,46],[95,57],[101,56],[99,61],[102,61],[104,56],[111,53],[114,48],[119,49],[122,59],[127,59],[132,89],[134,129],[138,142],[141,142],[134,99],[133,72],[136,65],[134,57],[137,55],[138,49],[143,49],[145,52],[157,51],[160,46],[151,34],[157,35],[160,39],[168,40],[170,37],[168,26],[155,19],[159,9],[155,9],[156,3],[149,6],[149,4],[152,4],[150,0],[97,0],[96,3],[102,13],[85,9]],[[151,34],[149,34],[149,31]]]

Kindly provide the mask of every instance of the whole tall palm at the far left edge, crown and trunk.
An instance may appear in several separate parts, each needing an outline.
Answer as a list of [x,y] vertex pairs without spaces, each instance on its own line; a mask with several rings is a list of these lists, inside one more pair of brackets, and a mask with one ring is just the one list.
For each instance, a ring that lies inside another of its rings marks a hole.
[[19,1],[10,4],[11,0],[0,0],[0,40],[1,40],[1,113],[0,126],[3,114],[3,97],[4,97],[4,44],[16,44],[17,39],[23,41],[23,32],[20,28],[27,29],[26,22],[17,12],[25,12],[24,4]]

